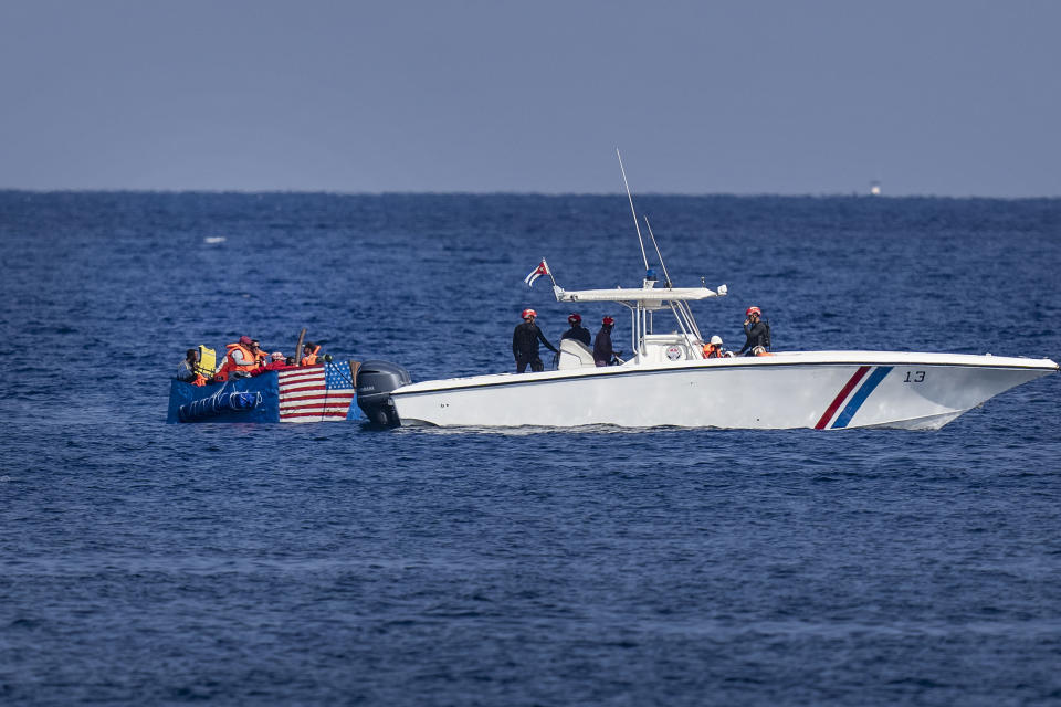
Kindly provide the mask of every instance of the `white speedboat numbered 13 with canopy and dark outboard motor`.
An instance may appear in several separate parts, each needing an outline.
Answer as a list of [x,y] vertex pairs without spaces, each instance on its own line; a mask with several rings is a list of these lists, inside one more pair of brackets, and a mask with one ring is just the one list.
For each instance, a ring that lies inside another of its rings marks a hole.
[[[687,303],[725,295],[725,286],[654,284],[590,291],[554,285],[558,302],[610,302],[630,309],[633,354],[621,365],[598,368],[588,349],[569,339],[557,370],[539,373],[412,383],[398,367],[367,361],[358,376],[358,403],[370,420],[385,424],[935,430],[1010,388],[1058,371],[1049,359],[904,351],[705,359]],[[676,321],[670,334],[653,331],[661,313]],[[363,374],[370,388],[365,392]]]

